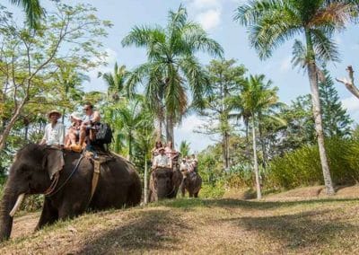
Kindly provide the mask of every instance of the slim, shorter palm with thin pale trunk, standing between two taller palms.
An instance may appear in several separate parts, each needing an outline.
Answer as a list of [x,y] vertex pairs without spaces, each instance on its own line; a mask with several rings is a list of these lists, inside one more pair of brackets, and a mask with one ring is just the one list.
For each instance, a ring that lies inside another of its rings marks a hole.
[[[272,82],[265,82],[265,75],[250,75],[241,86],[241,94],[237,103],[241,101],[238,109],[242,111],[242,118],[249,126],[251,120],[253,139],[253,164],[256,175],[257,198],[261,198],[260,180],[257,155],[256,127],[264,116],[272,117],[273,109],[278,107],[277,88],[270,88]],[[275,117],[273,117],[275,118]],[[263,152],[265,153],[265,152]]]

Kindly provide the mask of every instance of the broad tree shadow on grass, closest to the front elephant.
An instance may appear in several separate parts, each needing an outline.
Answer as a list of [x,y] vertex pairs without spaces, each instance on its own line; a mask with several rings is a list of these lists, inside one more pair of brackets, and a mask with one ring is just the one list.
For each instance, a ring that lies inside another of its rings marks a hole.
[[[99,219],[101,220],[101,219]],[[186,222],[169,210],[136,212],[125,224],[84,243],[80,254],[118,254],[124,251],[176,251],[180,236],[190,230]]]

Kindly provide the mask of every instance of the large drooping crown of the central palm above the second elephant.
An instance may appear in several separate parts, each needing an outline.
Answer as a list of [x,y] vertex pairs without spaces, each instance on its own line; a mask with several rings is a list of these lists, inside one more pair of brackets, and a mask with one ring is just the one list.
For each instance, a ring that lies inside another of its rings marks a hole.
[[136,26],[122,40],[123,46],[146,48],[148,61],[136,67],[129,78],[129,88],[145,84],[148,105],[157,115],[159,134],[166,123],[167,141],[173,141],[173,128],[188,110],[188,91],[192,105],[200,106],[202,95],[209,91],[208,79],[195,53],[205,51],[222,56],[223,48],[208,37],[206,31],[188,21],[186,9],[169,12],[167,26]]

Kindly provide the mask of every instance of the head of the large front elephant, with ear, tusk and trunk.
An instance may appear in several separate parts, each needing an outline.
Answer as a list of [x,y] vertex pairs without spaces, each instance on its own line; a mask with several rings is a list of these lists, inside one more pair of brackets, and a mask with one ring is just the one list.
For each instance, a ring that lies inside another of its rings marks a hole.
[[59,150],[44,145],[25,145],[15,156],[0,206],[0,241],[9,239],[13,215],[25,195],[41,194],[51,184],[52,175],[62,168]]

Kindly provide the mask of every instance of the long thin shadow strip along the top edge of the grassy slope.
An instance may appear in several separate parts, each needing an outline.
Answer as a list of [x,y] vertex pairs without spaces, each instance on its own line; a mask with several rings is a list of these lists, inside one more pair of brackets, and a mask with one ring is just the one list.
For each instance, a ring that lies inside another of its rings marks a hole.
[[279,207],[304,206],[323,203],[335,202],[352,202],[359,201],[359,198],[320,198],[299,201],[248,201],[240,199],[196,199],[196,198],[180,198],[173,201],[165,201],[161,205],[165,207],[176,208],[194,208],[194,207],[242,207],[247,209],[276,209]]

